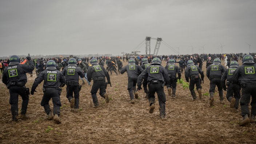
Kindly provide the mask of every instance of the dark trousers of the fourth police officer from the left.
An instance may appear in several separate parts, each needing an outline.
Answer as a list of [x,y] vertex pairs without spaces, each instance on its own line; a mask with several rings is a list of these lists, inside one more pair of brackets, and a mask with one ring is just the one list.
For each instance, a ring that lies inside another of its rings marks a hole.
[[92,101],[94,105],[99,104],[98,98],[96,95],[99,89],[100,89],[100,96],[104,97],[106,93],[106,82],[104,80],[93,81],[91,95],[92,95]]

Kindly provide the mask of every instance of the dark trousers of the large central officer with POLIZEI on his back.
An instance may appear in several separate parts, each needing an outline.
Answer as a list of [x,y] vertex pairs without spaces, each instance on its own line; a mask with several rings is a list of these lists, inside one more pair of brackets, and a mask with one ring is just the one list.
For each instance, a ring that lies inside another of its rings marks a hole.
[[158,101],[159,101],[159,111],[160,115],[165,115],[165,93],[164,93],[164,87],[162,87],[161,83],[158,84],[152,84],[150,83],[148,85],[148,100],[149,105],[155,103],[155,93],[157,93]]

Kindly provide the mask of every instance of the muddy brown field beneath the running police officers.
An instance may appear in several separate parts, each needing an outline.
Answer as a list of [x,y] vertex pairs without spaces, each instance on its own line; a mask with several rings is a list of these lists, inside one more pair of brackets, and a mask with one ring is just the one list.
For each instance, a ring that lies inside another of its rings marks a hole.
[[[205,63],[203,71],[206,72]],[[29,88],[36,78],[33,72],[33,77],[27,75],[26,86]],[[184,72],[182,78],[185,79]],[[192,101],[189,89],[183,88],[185,84],[177,84],[175,100],[168,96],[167,88],[164,88],[167,96],[165,120],[159,117],[157,96],[153,113],[148,112],[149,103],[143,91],[139,92],[135,104],[129,103],[127,79],[127,73],[111,75],[112,87],[108,85],[107,88],[110,102],[105,103],[97,93],[99,108],[92,107],[91,86],[83,85],[79,113],[71,112],[64,87],[60,96],[62,123],[59,125],[53,120],[44,120],[46,114],[40,105],[42,83],[35,95],[30,95],[27,110],[29,119],[12,122],[9,91],[1,81],[0,143],[256,143],[256,124],[246,127],[238,125],[242,120],[240,107],[239,112],[229,108],[225,91],[225,104],[219,104],[216,87],[215,106],[209,107],[209,80],[206,76],[201,100]],[[19,97],[19,112],[21,101]],[[50,105],[52,107],[51,101]]]

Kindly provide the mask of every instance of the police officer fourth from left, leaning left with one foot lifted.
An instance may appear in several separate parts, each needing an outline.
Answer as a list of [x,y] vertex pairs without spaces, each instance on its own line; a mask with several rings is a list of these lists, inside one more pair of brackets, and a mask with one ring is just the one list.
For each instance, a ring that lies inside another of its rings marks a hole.
[[[91,82],[93,80],[93,85],[91,89],[92,101],[94,104],[94,108],[99,107],[99,102],[97,99],[97,92],[100,89],[100,96],[103,97],[106,103],[109,103],[109,95],[106,93],[107,84],[110,83],[110,77],[108,71],[102,66],[99,65],[98,60],[96,58],[92,58],[91,67],[88,68],[87,78],[88,81]],[[108,83],[105,82],[105,77],[107,77]]]

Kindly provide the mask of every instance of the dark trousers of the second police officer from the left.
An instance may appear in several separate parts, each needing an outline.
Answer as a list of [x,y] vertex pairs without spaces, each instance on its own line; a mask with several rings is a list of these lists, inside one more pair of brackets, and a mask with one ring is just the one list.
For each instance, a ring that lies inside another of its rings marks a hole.
[[41,106],[44,107],[45,113],[47,115],[51,111],[49,101],[52,99],[52,104],[53,104],[53,114],[58,114],[60,115],[60,107],[61,107],[61,102],[60,102],[60,95],[59,95],[59,90],[58,89],[47,89],[44,92],[42,101],[41,101]]

